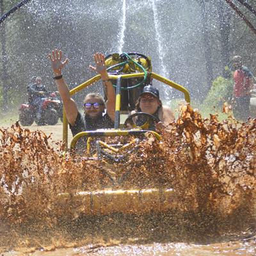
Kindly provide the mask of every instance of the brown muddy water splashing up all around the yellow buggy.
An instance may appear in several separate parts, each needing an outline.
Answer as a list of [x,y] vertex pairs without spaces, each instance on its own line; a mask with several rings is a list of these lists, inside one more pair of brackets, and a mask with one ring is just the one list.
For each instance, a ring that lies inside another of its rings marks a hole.
[[[183,106],[161,143],[129,161],[63,154],[44,132],[1,129],[0,252],[4,255],[255,255],[256,120],[202,120]],[[173,188],[175,209],[84,216],[58,193]]]

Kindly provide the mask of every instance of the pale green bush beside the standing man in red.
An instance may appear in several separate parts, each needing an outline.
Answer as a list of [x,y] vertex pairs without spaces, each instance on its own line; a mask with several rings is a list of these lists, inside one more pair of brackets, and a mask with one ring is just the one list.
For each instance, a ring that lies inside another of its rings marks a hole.
[[205,108],[221,110],[224,102],[232,99],[233,80],[217,77],[212,82],[211,90],[204,100]]

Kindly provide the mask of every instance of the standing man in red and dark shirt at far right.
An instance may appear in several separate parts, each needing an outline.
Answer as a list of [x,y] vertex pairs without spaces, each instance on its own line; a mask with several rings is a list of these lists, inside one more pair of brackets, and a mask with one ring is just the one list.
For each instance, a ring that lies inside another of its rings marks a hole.
[[234,88],[233,88],[233,113],[237,120],[246,122],[250,116],[250,97],[253,87],[253,74],[245,66],[241,56],[233,57]]

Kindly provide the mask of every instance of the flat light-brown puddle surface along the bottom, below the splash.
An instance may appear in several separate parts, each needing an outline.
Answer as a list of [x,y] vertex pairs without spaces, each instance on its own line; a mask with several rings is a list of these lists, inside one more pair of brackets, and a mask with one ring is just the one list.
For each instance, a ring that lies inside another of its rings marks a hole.
[[[27,252],[27,255],[162,255],[162,256],[205,256],[205,255],[255,255],[255,243],[250,241],[236,241],[229,243],[211,243],[211,244],[186,244],[186,243],[152,243],[143,245],[127,244],[104,244],[102,246],[90,244],[79,248],[63,248],[54,250],[54,252]],[[24,255],[24,252],[10,252],[4,255]]]

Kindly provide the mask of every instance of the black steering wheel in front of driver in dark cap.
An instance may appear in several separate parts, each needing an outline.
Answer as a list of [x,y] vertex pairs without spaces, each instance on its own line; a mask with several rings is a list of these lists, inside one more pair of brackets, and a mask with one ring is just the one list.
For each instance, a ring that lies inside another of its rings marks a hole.
[[[141,125],[134,124],[134,121],[132,118],[136,116],[138,116],[138,118],[141,117],[140,120],[138,120],[142,123]],[[160,119],[157,116],[153,116],[145,112],[137,112],[127,117],[127,119],[124,122],[124,127],[127,127],[128,124],[131,124],[133,128],[149,129],[150,121],[153,121],[154,123],[158,123],[160,122]]]

